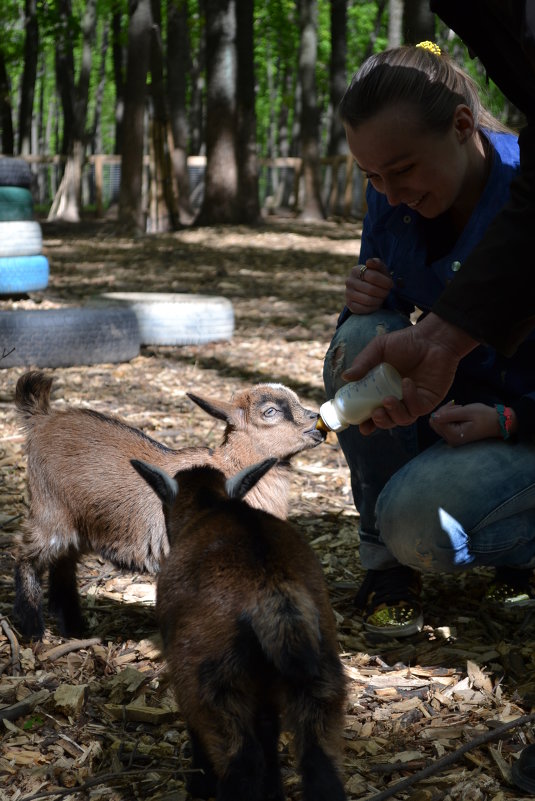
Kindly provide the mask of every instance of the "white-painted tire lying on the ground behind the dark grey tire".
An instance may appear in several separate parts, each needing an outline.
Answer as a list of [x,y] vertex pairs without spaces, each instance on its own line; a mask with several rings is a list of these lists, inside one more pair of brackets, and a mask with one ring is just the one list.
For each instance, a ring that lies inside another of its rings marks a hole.
[[143,345],[202,345],[234,333],[227,298],[174,292],[106,292],[101,298],[136,313]]

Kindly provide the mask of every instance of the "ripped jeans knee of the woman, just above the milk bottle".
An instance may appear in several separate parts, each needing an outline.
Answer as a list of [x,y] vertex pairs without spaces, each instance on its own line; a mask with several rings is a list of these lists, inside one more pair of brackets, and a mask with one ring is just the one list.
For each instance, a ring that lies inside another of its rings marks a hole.
[[323,381],[327,394],[334,394],[345,383],[342,373],[372,339],[380,334],[405,328],[408,324],[406,317],[388,309],[373,314],[352,314],[348,317],[337,329],[323,363]]

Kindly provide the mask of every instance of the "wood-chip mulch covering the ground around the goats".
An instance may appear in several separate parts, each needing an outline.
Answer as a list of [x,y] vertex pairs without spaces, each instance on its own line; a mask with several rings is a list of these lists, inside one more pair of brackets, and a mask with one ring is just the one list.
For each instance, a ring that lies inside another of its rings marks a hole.
[[[0,309],[78,304],[103,291],[223,295],[231,342],[144,347],[129,363],[57,368],[54,402],[119,415],[173,447],[215,444],[223,424],[186,396],[230,398],[258,381],[318,408],[322,361],[359,248],[358,223],[184,229],[129,239],[113,223],[42,223],[50,285]],[[25,368],[0,369],[0,800],[186,797],[189,750],[153,618],[154,580],[88,555],[79,587],[87,640],[48,620],[28,643],[12,621],[13,542],[27,511],[13,392]],[[294,459],[290,519],[329,585],[349,678],[343,769],[349,799],[518,801],[511,766],[535,743],[535,614],[485,607],[489,572],[424,576],[426,625],[370,640],[352,599],[363,572],[358,513],[334,435]],[[288,734],[287,796],[301,798]],[[424,771],[420,775],[420,771]],[[434,771],[429,774],[431,771]],[[416,779],[419,779],[416,781]]]

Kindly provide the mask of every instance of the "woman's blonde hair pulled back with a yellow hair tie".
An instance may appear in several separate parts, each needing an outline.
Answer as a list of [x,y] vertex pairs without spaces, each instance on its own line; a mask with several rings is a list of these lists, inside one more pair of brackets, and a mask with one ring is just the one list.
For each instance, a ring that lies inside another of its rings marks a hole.
[[344,93],[339,114],[355,129],[399,102],[416,106],[428,130],[437,133],[447,131],[461,103],[471,110],[476,128],[510,130],[483,106],[477,84],[453,59],[418,45],[394,47],[366,59]]

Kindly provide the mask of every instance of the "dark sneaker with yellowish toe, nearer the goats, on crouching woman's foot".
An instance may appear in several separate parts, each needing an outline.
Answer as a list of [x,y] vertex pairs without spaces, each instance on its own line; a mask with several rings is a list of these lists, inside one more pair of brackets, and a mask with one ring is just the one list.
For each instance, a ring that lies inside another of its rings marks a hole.
[[420,574],[410,567],[368,570],[355,598],[366,631],[389,637],[409,637],[421,631],[421,588]]

